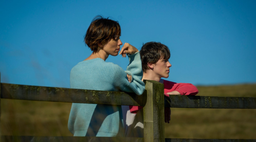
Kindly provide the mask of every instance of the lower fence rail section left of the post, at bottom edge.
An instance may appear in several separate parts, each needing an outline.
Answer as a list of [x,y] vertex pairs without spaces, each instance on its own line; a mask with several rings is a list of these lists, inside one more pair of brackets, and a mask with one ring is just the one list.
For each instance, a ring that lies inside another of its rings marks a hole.
[[143,138],[89,136],[1,136],[1,142],[143,142]]

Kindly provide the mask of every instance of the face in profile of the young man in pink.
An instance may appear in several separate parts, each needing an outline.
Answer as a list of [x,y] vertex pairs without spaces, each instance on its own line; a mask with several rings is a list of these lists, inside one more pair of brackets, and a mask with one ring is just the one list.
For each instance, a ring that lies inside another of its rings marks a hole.
[[155,75],[160,78],[168,78],[169,77],[169,68],[172,67],[168,59],[160,59],[154,65]]

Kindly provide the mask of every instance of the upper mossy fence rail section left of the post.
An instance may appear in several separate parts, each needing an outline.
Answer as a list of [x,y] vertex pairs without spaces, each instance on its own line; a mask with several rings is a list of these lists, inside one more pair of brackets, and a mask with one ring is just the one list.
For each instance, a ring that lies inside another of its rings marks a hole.
[[146,97],[146,95],[139,96],[135,93],[126,92],[41,87],[7,83],[1,83],[0,87],[2,99],[145,106],[143,97]]

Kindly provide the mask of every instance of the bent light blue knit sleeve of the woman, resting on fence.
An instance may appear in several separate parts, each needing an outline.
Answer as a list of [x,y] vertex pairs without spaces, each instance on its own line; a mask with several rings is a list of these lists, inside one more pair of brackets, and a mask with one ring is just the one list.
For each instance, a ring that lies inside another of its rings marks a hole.
[[[118,66],[118,69],[113,72],[113,78],[115,80],[114,84],[119,90],[134,92],[137,95],[141,95],[145,90],[145,84],[141,81],[143,77],[143,70],[140,60],[140,52],[128,55],[128,57],[129,65],[127,67],[127,71],[122,70],[122,68]],[[131,83],[128,81],[127,74],[132,75]]]

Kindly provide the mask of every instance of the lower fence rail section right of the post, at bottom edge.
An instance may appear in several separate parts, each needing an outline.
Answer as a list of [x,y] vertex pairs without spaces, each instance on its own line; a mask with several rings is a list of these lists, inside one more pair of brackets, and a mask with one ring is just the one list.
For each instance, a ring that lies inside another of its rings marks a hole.
[[256,139],[165,139],[165,142],[256,142]]

